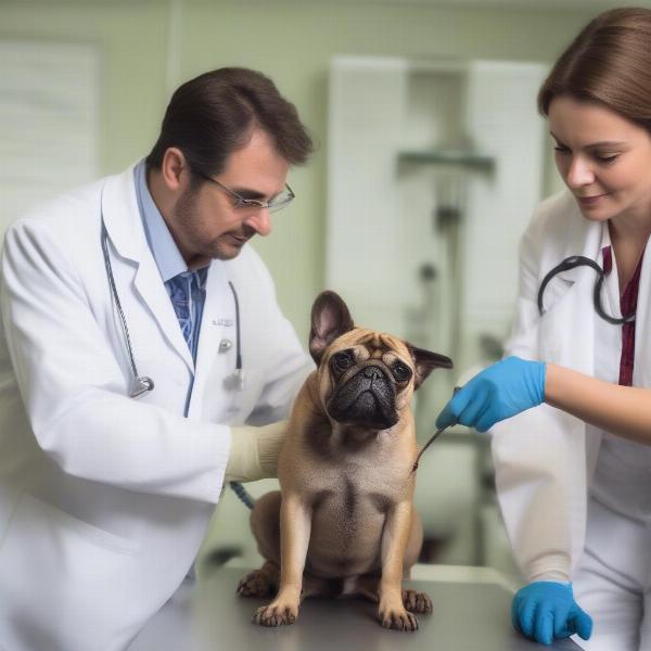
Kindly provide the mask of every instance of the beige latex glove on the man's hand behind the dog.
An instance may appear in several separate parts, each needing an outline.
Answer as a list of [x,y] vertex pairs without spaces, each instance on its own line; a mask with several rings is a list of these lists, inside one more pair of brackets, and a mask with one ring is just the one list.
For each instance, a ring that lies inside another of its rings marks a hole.
[[231,449],[225,482],[255,482],[278,476],[278,454],[288,431],[288,421],[261,427],[231,427]]

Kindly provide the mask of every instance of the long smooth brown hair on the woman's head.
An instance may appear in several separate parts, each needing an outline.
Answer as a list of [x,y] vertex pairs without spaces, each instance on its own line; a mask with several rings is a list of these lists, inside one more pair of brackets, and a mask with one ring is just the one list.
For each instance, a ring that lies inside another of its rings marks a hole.
[[570,95],[597,102],[651,131],[651,10],[598,15],[556,62],[538,92],[538,111]]

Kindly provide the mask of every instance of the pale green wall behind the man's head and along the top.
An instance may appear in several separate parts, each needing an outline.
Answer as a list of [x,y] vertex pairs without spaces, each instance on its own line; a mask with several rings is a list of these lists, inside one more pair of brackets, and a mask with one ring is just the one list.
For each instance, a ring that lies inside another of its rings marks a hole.
[[233,64],[271,76],[320,143],[311,164],[291,173],[296,202],[275,216],[271,237],[255,244],[276,278],[281,305],[305,341],[311,301],[323,285],[331,56],[549,62],[598,11],[597,3],[582,11],[436,4],[400,0],[0,0],[0,38],[98,46],[102,174],[119,171],[149,151],[170,91],[187,78]]

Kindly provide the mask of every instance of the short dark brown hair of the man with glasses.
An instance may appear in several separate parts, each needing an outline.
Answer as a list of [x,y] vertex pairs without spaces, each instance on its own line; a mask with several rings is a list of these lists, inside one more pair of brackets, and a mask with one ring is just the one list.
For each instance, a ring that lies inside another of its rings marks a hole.
[[[272,138],[278,153],[291,165],[305,163],[314,150],[295,106],[271,79],[240,67],[204,73],[171,95],[146,166],[159,169],[165,151],[176,146],[190,169],[218,175],[228,156],[246,144],[256,127]],[[199,175],[194,176],[199,181]]]

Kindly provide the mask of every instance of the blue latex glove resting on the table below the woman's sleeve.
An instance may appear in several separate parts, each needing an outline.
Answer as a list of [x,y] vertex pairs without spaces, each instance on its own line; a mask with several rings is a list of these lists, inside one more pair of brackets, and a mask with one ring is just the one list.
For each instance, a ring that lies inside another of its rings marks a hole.
[[587,640],[592,633],[592,618],[574,601],[572,584],[551,580],[537,580],[519,590],[511,621],[524,637],[546,646],[575,633]]

